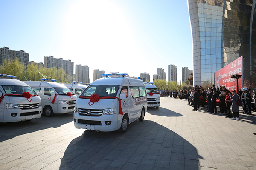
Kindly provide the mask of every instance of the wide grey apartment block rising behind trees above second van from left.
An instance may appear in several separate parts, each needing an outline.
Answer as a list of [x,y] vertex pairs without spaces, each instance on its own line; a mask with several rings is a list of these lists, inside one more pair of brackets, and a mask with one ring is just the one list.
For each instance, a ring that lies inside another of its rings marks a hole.
[[54,58],[53,56],[44,56],[45,68],[63,68],[66,74],[73,76],[74,74],[74,62],[70,59],[63,60],[63,58]]

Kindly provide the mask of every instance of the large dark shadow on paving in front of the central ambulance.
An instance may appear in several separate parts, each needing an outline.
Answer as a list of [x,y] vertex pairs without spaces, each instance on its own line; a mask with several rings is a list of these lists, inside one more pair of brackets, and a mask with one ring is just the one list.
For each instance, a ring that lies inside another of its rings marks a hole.
[[59,170],[200,170],[196,148],[156,122],[138,120],[126,133],[85,130],[65,150]]

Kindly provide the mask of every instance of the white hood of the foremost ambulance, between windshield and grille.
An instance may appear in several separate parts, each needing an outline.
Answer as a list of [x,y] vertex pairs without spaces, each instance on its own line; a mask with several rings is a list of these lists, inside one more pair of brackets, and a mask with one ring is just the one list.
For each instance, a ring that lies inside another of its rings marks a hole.
[[98,102],[92,103],[90,99],[78,98],[76,100],[76,107],[84,109],[108,109],[114,107],[114,101],[116,100],[118,99],[100,99]]

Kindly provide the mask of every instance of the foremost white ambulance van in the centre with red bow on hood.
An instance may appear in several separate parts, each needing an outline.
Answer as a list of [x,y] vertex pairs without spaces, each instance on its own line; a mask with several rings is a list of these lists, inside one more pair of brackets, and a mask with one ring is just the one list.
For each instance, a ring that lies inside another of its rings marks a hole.
[[136,119],[143,121],[147,112],[147,94],[140,79],[128,74],[102,74],[79,96],[74,111],[76,128],[97,131],[120,129],[125,133]]

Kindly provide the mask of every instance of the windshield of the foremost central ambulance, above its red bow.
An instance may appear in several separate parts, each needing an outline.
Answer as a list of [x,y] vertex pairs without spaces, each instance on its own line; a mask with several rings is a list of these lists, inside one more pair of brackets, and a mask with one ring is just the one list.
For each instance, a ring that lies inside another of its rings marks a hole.
[[100,97],[116,97],[119,85],[90,85],[81,96],[90,97],[93,94],[98,94]]

